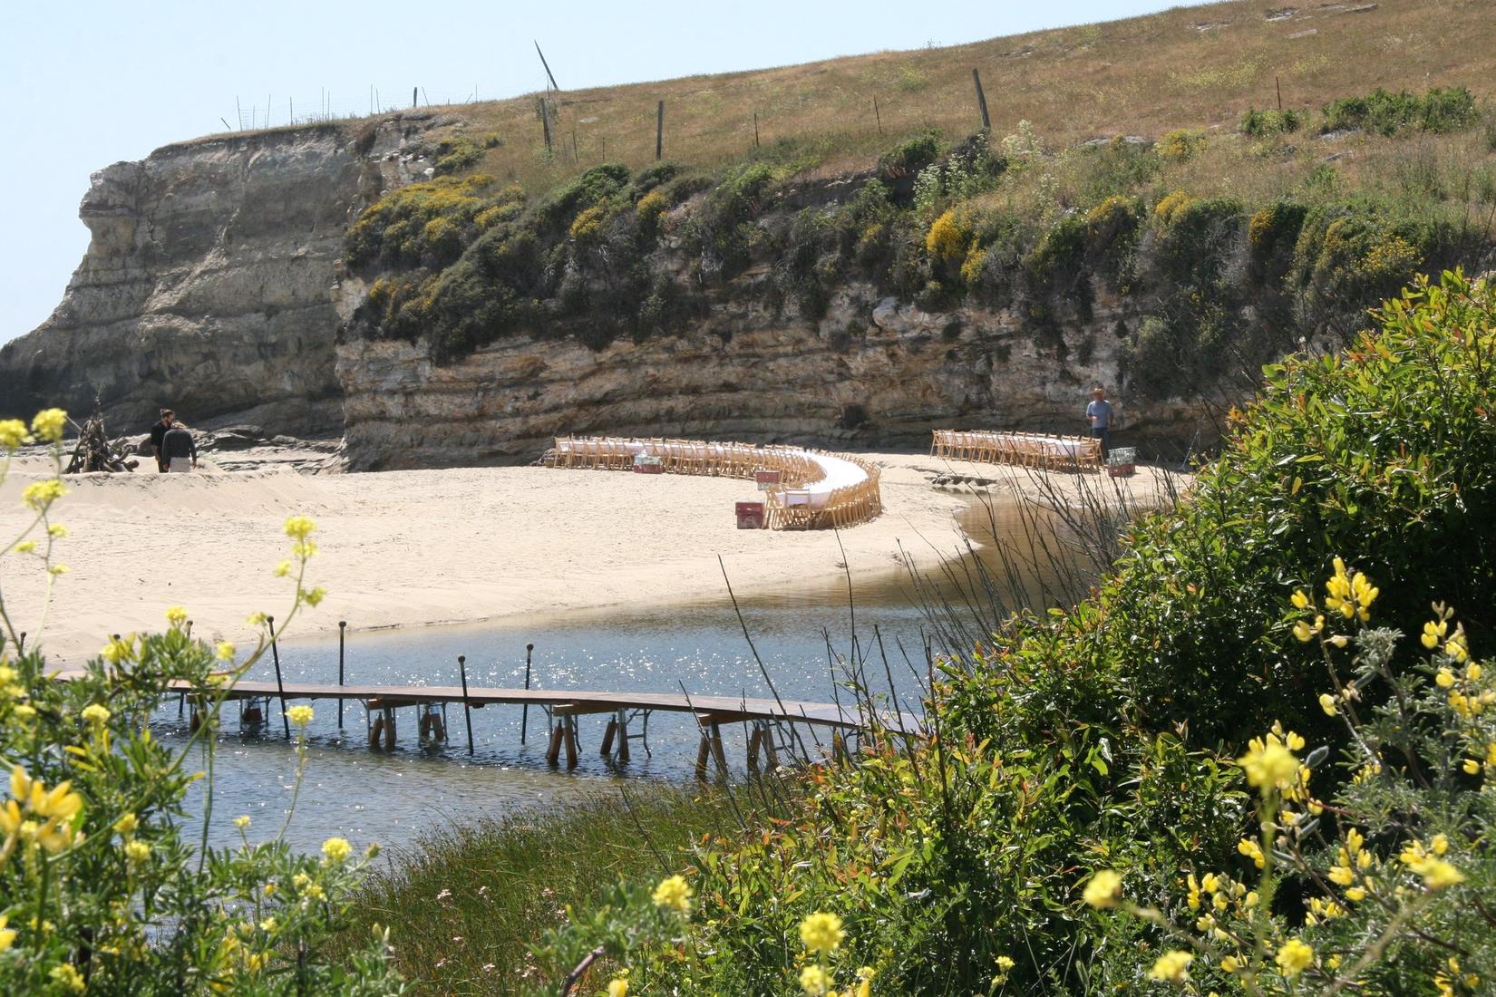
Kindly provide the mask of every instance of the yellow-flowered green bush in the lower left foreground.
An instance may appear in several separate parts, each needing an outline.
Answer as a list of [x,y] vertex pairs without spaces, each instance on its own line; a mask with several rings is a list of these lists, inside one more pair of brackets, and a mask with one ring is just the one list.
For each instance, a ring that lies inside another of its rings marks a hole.
[[[49,584],[67,537],[51,520],[66,495],[57,474],[66,425],[60,410],[39,413],[28,430],[0,423],[7,454],[27,436],[51,444],[54,472],[22,489],[27,526],[0,549]],[[301,571],[277,634],[310,601],[301,578],[313,531],[311,520],[287,522]],[[332,954],[368,861],[350,861],[347,843],[326,864],[292,854],[280,836],[202,848],[211,804],[188,804],[188,789],[203,782],[211,801],[223,697],[269,631],[235,664],[232,644],[215,653],[193,640],[187,610],[172,607],[165,632],[109,638],[81,674],[60,680],[36,650],[45,622],[43,610],[25,626],[0,592],[0,993],[398,993],[383,934]],[[145,722],[175,682],[215,691],[184,743],[157,738]],[[298,786],[304,765],[302,743]]]

